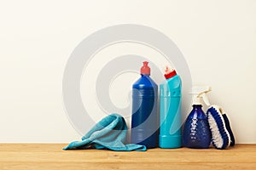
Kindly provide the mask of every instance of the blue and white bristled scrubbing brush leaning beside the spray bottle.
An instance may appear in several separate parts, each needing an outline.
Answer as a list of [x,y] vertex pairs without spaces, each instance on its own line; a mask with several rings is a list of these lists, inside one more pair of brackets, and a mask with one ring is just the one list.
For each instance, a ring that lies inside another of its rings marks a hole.
[[216,149],[224,150],[235,144],[230,122],[218,105],[212,105],[207,111],[209,126],[212,132],[212,144]]

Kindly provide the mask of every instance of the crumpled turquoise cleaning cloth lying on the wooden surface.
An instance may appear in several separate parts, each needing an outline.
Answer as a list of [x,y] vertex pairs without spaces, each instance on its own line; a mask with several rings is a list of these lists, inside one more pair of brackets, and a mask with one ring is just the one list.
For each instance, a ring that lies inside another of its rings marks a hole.
[[140,144],[125,144],[127,126],[118,114],[106,116],[84,135],[82,141],[74,141],[63,150],[108,149],[116,151],[147,150]]

